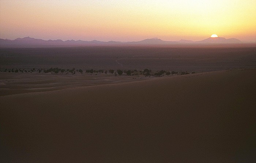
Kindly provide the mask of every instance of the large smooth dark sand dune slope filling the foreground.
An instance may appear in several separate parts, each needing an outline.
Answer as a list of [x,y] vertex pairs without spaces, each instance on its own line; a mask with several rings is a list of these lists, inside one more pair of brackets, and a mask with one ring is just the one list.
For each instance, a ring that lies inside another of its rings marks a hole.
[[12,93],[0,162],[256,162],[255,98],[255,69]]

